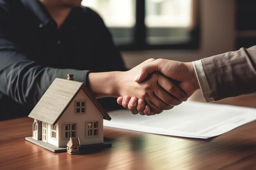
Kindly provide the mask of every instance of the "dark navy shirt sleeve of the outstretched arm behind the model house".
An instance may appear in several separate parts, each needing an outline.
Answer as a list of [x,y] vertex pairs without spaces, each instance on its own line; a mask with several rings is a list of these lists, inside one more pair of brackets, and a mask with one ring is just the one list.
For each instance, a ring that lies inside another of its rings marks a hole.
[[56,77],[74,74],[76,81],[86,83],[89,71],[43,67],[29,60],[11,40],[8,13],[0,8],[0,93],[16,102],[35,106]]

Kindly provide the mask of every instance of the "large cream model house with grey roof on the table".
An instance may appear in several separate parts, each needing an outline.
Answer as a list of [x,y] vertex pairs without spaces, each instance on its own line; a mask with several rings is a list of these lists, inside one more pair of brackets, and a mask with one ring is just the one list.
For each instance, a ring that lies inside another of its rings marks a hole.
[[28,117],[34,119],[33,136],[26,140],[53,152],[66,151],[70,137],[79,137],[81,146],[103,144],[103,119],[111,119],[72,75],[56,78]]

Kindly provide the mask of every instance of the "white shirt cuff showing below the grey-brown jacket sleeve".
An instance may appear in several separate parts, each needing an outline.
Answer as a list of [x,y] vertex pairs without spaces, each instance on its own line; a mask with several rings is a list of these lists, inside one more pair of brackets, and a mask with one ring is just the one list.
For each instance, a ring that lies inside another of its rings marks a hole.
[[198,78],[200,89],[201,89],[202,94],[204,96],[204,100],[206,102],[213,102],[214,98],[211,94],[210,86],[209,86],[207,78],[204,74],[204,68],[203,68],[201,60],[197,60],[197,61],[192,62],[192,63],[193,63],[194,69],[195,69],[196,77]]

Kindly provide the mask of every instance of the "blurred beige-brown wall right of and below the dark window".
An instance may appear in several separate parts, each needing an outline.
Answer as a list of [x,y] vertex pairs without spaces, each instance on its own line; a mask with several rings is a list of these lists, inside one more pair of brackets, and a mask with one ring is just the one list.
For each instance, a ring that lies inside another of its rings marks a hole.
[[200,0],[201,41],[197,50],[123,51],[127,68],[148,58],[189,62],[235,48],[235,0]]

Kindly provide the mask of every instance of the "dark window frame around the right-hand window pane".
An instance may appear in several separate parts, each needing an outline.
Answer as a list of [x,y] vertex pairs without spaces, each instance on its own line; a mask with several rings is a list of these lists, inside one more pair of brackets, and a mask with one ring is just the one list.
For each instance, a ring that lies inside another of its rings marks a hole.
[[[198,49],[200,46],[200,20],[199,20],[199,0],[193,0],[193,8],[195,10],[194,16],[196,22],[193,29],[189,30],[189,41],[176,44],[148,44],[146,42],[146,25],[145,25],[145,11],[146,0],[135,0],[135,26],[133,29],[132,42],[128,44],[118,45],[122,51],[137,51],[137,50],[149,50],[149,49]],[[122,27],[108,27],[110,30],[127,29]],[[159,27],[159,29],[162,29]],[[181,28],[172,28],[173,30],[179,30]]]

